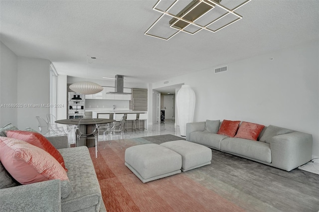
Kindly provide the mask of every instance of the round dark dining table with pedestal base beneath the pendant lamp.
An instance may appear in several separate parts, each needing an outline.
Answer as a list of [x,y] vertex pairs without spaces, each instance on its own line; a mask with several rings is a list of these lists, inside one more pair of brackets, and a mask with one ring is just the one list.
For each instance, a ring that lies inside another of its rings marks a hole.
[[[94,119],[94,121],[93,121]],[[91,134],[97,126],[100,124],[107,124],[107,123],[112,123],[115,120],[114,119],[109,119],[109,118],[71,118],[71,119],[60,119],[56,120],[56,123],[60,124],[67,124],[67,125],[77,125],[78,129],[83,133],[83,134]],[[97,125],[97,126],[96,126]],[[99,135],[96,135],[97,137]],[[94,138],[94,135],[92,134],[91,138]],[[79,143],[77,144],[78,146],[83,146],[86,145],[88,147],[94,147],[95,142],[91,142],[90,136],[81,139]],[[92,139],[91,139],[92,140]],[[82,144],[84,142],[84,144]]]

